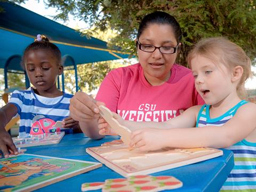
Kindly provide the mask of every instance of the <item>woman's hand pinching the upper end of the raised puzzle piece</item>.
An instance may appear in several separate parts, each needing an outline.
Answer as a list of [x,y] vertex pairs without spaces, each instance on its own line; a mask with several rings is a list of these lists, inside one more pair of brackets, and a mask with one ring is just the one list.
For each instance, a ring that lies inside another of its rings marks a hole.
[[82,91],[76,92],[70,99],[69,110],[70,116],[76,121],[90,122],[100,117],[96,101]]

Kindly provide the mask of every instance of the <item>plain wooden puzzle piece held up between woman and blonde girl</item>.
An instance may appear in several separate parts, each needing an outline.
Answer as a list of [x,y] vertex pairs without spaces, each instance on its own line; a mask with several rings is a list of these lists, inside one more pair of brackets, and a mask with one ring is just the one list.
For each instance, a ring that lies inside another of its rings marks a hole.
[[105,106],[99,106],[100,115],[110,125],[111,129],[121,136],[122,141],[125,145],[129,145],[131,141],[131,130],[121,125],[114,117],[112,112]]

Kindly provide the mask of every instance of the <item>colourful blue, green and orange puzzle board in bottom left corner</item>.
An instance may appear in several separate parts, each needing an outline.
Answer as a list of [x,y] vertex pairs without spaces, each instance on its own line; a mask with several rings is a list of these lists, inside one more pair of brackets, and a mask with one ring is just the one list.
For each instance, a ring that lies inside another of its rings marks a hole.
[[101,166],[101,163],[31,154],[4,158],[0,159],[0,190],[31,191]]

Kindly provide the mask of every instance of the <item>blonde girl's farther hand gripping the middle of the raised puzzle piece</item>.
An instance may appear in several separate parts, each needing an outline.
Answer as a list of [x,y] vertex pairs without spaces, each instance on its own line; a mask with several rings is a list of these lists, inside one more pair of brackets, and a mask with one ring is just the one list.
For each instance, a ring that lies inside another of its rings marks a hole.
[[[120,115],[118,115],[118,114],[116,114],[116,113],[112,113],[113,114],[113,117],[121,124],[121,125],[123,125],[123,123],[124,123],[124,119],[120,116]],[[99,127],[99,134],[101,134],[101,135],[117,135],[116,133],[115,133],[115,131],[113,131],[112,129],[111,129],[111,127],[109,126],[109,124],[105,121],[105,119],[103,119],[102,117],[100,117],[99,118],[99,120],[98,120],[98,123],[99,123],[99,125],[98,125],[98,127]]]

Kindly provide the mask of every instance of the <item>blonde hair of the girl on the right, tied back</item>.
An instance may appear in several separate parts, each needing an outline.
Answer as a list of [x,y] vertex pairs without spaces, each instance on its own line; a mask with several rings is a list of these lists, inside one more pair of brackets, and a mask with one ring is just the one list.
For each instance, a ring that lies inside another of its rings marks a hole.
[[244,50],[233,42],[223,37],[211,37],[202,39],[189,52],[187,61],[191,67],[191,60],[201,55],[213,61],[217,66],[223,64],[230,71],[236,67],[243,68],[243,75],[236,87],[237,93],[241,99],[246,98],[244,88],[245,81],[252,76],[251,60]]

